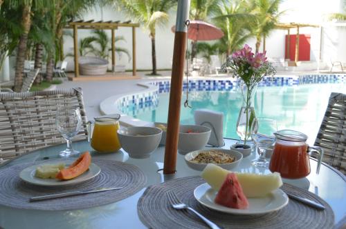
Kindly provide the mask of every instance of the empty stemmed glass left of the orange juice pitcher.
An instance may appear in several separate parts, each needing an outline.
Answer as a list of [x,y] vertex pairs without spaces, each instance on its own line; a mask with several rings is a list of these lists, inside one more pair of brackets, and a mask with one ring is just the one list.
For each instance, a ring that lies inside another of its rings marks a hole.
[[80,152],[73,150],[72,148],[72,138],[78,134],[78,131],[82,126],[80,109],[68,107],[58,108],[55,117],[55,124],[57,126],[57,131],[59,131],[62,137],[66,139],[67,143],[67,148],[66,150],[60,152],[60,157],[71,157],[72,155],[78,155]]

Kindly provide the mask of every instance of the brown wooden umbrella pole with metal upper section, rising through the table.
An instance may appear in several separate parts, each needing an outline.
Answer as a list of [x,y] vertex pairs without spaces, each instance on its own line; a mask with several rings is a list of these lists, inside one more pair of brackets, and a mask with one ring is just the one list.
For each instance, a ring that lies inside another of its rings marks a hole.
[[183,90],[184,61],[186,52],[185,21],[188,19],[190,0],[179,0],[176,12],[176,32],[174,36],[174,51],[172,77],[170,86],[170,105],[168,108],[167,137],[165,145],[164,174],[172,174],[176,170],[176,151],[178,149],[181,92]]

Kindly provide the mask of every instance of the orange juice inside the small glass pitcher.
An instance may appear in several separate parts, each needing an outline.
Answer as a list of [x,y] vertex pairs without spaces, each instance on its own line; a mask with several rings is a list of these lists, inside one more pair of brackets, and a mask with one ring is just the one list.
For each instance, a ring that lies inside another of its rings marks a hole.
[[120,141],[116,131],[119,129],[118,121],[95,121],[91,147],[98,152],[116,152]]

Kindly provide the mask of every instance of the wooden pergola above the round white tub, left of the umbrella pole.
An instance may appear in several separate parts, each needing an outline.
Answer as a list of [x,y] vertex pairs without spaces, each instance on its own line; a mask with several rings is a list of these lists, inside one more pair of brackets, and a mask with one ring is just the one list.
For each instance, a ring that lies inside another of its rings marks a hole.
[[136,76],[136,27],[139,23],[131,23],[131,21],[71,21],[69,26],[65,28],[73,29],[73,53],[75,56],[75,77],[80,76],[78,66],[78,29],[83,30],[111,30],[111,65],[113,72],[116,67],[116,33],[119,27],[132,28],[132,74]]

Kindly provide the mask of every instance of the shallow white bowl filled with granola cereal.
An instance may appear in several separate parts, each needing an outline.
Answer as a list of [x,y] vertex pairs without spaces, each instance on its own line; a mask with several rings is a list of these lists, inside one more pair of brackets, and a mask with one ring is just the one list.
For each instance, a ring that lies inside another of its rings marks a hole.
[[185,162],[193,170],[203,170],[208,163],[215,163],[226,170],[232,170],[242,161],[243,155],[235,150],[196,150],[185,155]]

